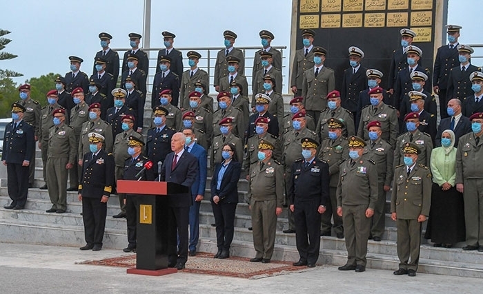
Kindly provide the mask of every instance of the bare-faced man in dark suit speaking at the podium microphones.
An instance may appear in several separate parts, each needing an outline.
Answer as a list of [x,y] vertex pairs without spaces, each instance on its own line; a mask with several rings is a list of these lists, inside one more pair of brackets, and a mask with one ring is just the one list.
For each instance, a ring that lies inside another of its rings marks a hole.
[[[184,149],[185,143],[183,133],[172,135],[172,153],[166,156],[161,167],[161,181],[174,182],[190,189],[195,184],[199,168],[197,158]],[[168,266],[178,270],[184,269],[188,260],[188,223],[192,202],[191,191],[168,195]]]

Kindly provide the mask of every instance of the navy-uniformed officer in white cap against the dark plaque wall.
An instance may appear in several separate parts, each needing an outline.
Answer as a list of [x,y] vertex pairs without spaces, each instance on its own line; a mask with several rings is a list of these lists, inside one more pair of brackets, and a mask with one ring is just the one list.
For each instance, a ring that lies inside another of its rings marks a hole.
[[[342,107],[352,112],[353,117],[357,118],[357,103],[359,94],[367,87],[366,67],[361,65],[364,52],[355,46],[349,48],[349,62],[351,67],[344,70],[342,78],[342,88],[340,91]],[[353,124],[355,126],[355,124]],[[349,134],[351,136],[353,134]]]

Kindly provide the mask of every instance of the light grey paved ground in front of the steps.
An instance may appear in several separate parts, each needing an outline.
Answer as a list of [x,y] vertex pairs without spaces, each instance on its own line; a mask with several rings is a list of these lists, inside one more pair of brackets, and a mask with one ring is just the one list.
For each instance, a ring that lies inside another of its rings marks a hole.
[[373,269],[342,273],[335,266],[247,280],[182,272],[148,277],[127,275],[124,268],[75,264],[121,255],[115,250],[0,243],[1,293],[481,293],[483,285],[469,277],[396,277]]

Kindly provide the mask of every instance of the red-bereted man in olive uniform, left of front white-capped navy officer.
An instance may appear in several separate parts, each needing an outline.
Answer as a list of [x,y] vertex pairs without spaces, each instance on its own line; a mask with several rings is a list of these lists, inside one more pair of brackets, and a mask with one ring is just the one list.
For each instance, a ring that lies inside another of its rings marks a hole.
[[74,167],[77,145],[74,129],[66,124],[66,110],[55,109],[48,135],[46,183],[52,207],[46,212],[64,213],[67,209],[68,169]]

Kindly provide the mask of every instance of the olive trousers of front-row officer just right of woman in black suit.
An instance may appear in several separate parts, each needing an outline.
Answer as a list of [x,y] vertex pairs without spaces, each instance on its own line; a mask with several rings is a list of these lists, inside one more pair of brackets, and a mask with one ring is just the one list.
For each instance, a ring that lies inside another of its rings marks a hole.
[[275,247],[275,231],[277,229],[277,200],[250,201],[253,228],[253,246],[255,258],[270,260]]

